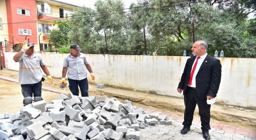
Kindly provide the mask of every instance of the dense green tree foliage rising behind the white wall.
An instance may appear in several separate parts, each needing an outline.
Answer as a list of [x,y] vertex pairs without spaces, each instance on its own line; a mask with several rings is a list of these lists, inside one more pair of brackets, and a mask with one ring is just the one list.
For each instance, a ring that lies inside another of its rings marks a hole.
[[84,53],[182,56],[184,49],[190,54],[194,23],[208,54],[224,50],[225,57],[255,58],[255,5],[253,0],[138,0],[124,9],[123,0],[97,0],[96,10],[74,10],[66,35]]

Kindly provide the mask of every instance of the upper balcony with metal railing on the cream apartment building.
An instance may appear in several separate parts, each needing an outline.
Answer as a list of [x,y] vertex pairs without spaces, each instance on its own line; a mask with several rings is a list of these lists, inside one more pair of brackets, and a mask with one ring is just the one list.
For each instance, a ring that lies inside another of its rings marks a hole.
[[[44,11],[44,12],[42,12]],[[63,20],[69,19],[70,14],[63,12],[49,11],[46,9],[37,10],[38,20]]]

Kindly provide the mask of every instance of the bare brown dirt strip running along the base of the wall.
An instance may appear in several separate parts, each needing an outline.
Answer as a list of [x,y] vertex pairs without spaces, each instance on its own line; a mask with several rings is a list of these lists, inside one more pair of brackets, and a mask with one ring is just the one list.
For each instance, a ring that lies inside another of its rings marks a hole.
[[[18,79],[18,72],[12,70],[0,70],[0,75]],[[60,89],[59,93],[42,91],[42,98],[49,103],[60,96],[60,93],[68,94],[68,87],[62,90],[59,88],[60,78],[54,78],[54,84],[50,84],[47,78],[43,82],[44,86],[50,86]],[[125,99],[132,101],[134,106],[149,108],[170,114],[183,115],[184,102],[182,98],[149,94],[145,92],[136,92],[117,88],[106,87],[104,89],[96,88],[96,84],[89,85],[89,96],[106,95],[108,98],[116,97],[120,102]],[[0,114],[18,112],[23,104],[20,84],[0,79]],[[226,105],[228,106],[228,105]],[[196,108],[194,118],[200,119],[198,109]],[[256,110],[238,110],[236,107],[228,108],[223,104],[213,104],[211,106],[211,122],[233,126],[245,130],[256,132]]]

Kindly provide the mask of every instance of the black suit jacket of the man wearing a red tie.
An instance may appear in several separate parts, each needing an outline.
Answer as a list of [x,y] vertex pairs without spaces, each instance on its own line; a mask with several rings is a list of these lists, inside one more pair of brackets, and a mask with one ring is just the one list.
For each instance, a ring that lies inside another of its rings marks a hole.
[[[192,70],[192,65],[196,56],[188,58],[183,74],[180,79],[178,88],[183,89],[183,95],[186,93],[189,76]],[[216,97],[219,90],[221,79],[221,64],[220,60],[207,54],[196,75],[196,93],[199,98],[206,98],[207,95]]]

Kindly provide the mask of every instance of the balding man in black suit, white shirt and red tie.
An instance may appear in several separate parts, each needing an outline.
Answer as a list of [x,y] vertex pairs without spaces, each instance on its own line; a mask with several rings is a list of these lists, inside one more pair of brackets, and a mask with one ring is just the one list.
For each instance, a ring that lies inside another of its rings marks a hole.
[[177,91],[184,95],[184,122],[181,134],[186,134],[192,125],[194,110],[198,105],[203,137],[210,140],[210,104],[208,99],[216,97],[220,86],[220,60],[207,54],[206,42],[198,40],[193,44],[195,56],[188,58]]

